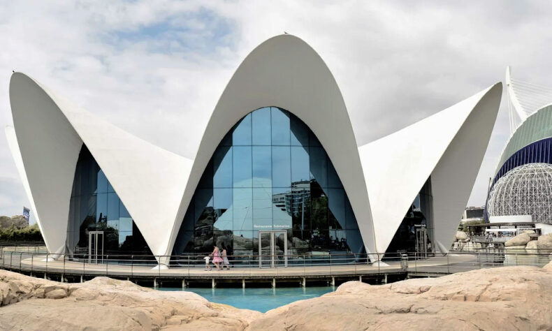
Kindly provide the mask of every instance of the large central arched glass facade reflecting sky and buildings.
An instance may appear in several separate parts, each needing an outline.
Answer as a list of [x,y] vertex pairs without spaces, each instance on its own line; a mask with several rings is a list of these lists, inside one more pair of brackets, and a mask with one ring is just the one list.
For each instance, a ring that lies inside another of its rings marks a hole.
[[217,244],[229,255],[256,255],[259,230],[285,230],[289,255],[364,251],[326,151],[298,117],[275,107],[249,113],[220,142],[173,253],[207,253]]

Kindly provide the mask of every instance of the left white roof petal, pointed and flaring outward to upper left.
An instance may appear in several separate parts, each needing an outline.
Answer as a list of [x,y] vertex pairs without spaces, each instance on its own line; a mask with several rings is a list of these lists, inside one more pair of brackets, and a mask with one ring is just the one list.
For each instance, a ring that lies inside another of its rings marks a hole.
[[50,252],[65,246],[75,165],[84,142],[152,252],[165,255],[189,159],[122,131],[22,73],[12,75],[10,103],[34,212]]

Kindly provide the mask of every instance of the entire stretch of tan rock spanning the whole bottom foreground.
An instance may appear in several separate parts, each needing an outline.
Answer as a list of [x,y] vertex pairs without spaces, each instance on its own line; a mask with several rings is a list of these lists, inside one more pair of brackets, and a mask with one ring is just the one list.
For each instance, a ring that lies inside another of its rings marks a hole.
[[552,330],[552,263],[351,281],[266,314],[103,277],[61,284],[0,270],[0,294],[1,330]]

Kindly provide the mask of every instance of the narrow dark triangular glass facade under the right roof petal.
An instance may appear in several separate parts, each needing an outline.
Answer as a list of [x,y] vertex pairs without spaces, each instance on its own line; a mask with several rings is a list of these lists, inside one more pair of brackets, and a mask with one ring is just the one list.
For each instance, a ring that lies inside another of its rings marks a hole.
[[416,230],[425,228],[427,233],[428,251],[433,251],[433,196],[431,195],[430,178],[414,199],[414,202],[402,219],[393,240],[386,253],[405,253],[416,251]]

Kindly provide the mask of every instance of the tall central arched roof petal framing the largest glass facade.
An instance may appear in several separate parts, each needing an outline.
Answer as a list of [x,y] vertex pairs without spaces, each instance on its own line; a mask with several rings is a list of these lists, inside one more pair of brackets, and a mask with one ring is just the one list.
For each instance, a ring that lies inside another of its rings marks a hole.
[[171,243],[219,142],[242,117],[267,106],[288,110],[317,135],[349,196],[365,247],[375,252],[368,192],[341,91],[319,54],[289,34],[275,36],[256,47],[224,89],[198,147],[182,200],[182,217],[175,224]]

